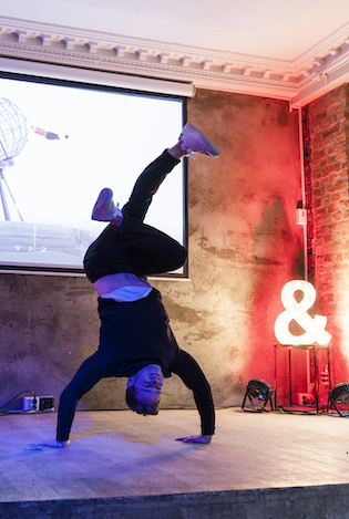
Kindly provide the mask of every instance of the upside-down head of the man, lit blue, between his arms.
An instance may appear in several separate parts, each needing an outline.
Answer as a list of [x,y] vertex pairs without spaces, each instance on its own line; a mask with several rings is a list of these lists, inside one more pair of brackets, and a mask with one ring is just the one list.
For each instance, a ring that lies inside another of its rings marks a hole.
[[157,364],[148,364],[130,376],[126,390],[129,407],[142,415],[157,415],[164,375]]

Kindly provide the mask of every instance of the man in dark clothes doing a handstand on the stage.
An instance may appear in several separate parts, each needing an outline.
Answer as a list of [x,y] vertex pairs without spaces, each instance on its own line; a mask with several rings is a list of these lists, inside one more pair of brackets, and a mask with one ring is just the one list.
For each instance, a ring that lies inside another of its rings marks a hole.
[[143,222],[153,195],[183,156],[219,155],[218,148],[187,123],[178,142],[137,178],[122,210],[113,193],[99,195],[92,219],[109,226],[89,247],[84,269],[99,294],[100,345],[86,359],[60,398],[55,440],[40,445],[66,447],[78,401],[102,377],[126,376],[126,402],[138,414],[157,414],[164,377],[177,374],[193,391],[201,416],[201,435],[177,438],[209,443],[215,411],[209,384],[196,361],[176,343],[161,293],[150,274],[173,271],[186,261],[186,250],[173,238]]

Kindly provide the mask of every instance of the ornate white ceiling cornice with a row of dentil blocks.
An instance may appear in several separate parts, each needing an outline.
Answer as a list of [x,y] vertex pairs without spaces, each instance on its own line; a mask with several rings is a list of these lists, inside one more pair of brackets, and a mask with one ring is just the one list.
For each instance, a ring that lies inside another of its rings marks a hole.
[[349,75],[349,24],[296,62],[0,17],[0,55],[192,83],[302,106]]

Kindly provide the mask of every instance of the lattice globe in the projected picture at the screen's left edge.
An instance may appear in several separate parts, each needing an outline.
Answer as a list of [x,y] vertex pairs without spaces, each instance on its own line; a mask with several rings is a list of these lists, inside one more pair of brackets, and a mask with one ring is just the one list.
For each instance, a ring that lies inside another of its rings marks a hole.
[[28,141],[29,127],[22,112],[0,97],[0,167],[11,166]]

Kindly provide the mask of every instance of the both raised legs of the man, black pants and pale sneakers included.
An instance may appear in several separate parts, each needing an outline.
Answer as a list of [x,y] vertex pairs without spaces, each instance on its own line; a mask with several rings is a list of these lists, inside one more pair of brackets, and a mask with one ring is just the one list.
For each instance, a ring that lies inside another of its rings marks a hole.
[[[85,257],[85,270],[94,282],[96,277],[115,272],[133,272],[138,276],[163,273],[182,267],[186,260],[185,249],[174,239],[153,227],[143,224],[153,196],[166,175],[178,164],[184,155],[218,156],[219,150],[197,128],[187,123],[179,141],[150,164],[135,183],[130,200],[115,216],[115,207],[110,196],[101,206],[100,197],[92,218],[111,221],[105,231],[91,246]],[[105,211],[104,211],[105,209]],[[105,216],[110,214],[110,218]],[[113,231],[116,236],[113,237]],[[122,239],[124,239],[122,243]],[[97,272],[94,268],[97,266]],[[89,274],[89,271],[91,272]]]

